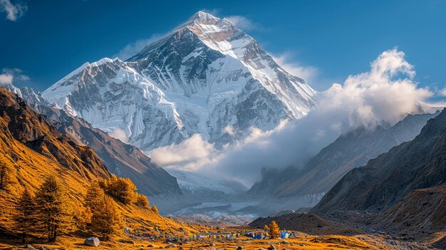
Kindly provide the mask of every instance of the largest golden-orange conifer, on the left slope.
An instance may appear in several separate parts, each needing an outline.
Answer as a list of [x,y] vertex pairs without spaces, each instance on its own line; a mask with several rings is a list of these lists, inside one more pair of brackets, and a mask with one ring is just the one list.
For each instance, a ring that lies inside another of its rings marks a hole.
[[73,227],[71,202],[55,177],[48,177],[36,194],[37,219],[48,241],[54,242],[59,234],[68,233]]

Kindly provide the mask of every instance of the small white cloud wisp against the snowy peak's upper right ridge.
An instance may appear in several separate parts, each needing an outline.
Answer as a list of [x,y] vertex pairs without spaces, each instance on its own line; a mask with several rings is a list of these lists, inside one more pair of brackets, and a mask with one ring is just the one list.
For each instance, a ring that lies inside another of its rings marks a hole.
[[273,56],[274,61],[276,61],[279,66],[284,68],[292,75],[296,75],[302,78],[306,83],[313,83],[318,75],[318,68],[314,66],[304,66],[302,63],[291,60],[291,53],[283,53],[279,56]]

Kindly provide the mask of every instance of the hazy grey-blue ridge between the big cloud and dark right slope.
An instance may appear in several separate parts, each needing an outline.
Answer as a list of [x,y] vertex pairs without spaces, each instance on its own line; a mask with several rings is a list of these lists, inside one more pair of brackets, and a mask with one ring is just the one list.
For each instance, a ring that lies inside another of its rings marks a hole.
[[276,197],[328,192],[348,171],[365,165],[368,160],[402,142],[412,140],[427,120],[439,113],[408,115],[392,127],[380,125],[374,130],[360,127],[323,148],[302,170],[294,167],[282,172],[266,170],[265,178],[254,184],[249,192],[265,193],[270,190]]

